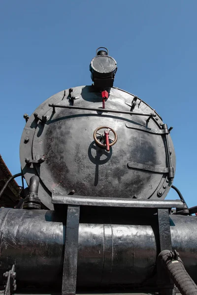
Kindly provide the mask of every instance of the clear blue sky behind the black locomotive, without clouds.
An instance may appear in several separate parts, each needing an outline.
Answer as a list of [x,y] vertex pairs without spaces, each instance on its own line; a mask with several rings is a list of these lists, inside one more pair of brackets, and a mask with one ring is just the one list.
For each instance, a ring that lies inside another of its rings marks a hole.
[[174,185],[197,205],[196,0],[0,1],[0,153],[8,168],[20,172],[23,114],[56,92],[90,85],[99,46],[118,63],[114,86],[174,127]]

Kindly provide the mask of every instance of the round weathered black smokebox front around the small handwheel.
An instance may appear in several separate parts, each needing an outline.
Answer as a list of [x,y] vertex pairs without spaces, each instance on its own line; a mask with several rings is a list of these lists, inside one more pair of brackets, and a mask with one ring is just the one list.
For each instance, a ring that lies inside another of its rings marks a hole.
[[[52,191],[65,195],[72,190],[79,196],[164,199],[172,182],[167,179],[169,165],[165,130],[158,114],[141,99],[117,88],[111,88],[105,110],[102,109],[101,93],[95,92],[93,86],[73,88],[72,96],[79,97],[74,100],[74,107],[78,109],[67,109],[73,106],[69,89],[59,92],[35,110],[37,117],[32,115],[28,119],[22,134],[22,171],[28,183],[32,175],[39,176],[38,195],[42,204],[53,209]],[[142,116],[130,113],[131,107],[126,104],[132,105],[134,97],[132,113]],[[61,108],[49,107],[53,103]],[[118,113],[107,113],[107,109]],[[152,115],[147,120],[143,114]],[[44,123],[37,119],[43,116],[46,118]],[[145,130],[127,128],[126,123]],[[117,132],[117,143],[109,152],[95,144],[93,133],[99,126],[109,126]],[[161,134],[146,130],[159,130]],[[27,137],[28,142],[25,141]],[[170,167],[175,170],[170,135],[168,141]],[[32,164],[25,162],[27,158]],[[35,162],[41,158],[45,161],[37,165]],[[156,170],[129,168],[129,162],[153,166]],[[162,187],[165,189],[158,194]]]

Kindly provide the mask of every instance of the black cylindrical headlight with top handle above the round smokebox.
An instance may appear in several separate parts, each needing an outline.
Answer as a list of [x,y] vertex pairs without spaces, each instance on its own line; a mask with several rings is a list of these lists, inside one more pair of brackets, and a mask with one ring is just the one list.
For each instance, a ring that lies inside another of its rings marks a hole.
[[[100,48],[106,49],[106,51],[99,50]],[[108,55],[107,48],[99,47],[97,49],[96,57],[90,63],[90,71],[95,87],[100,89],[113,87],[117,63],[115,59]]]

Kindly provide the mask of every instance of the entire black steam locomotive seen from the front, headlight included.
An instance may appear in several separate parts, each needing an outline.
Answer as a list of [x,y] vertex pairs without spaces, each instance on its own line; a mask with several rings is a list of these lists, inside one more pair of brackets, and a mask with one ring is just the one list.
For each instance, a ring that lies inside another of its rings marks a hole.
[[[24,115],[16,176],[28,189],[0,209],[0,292],[197,294],[197,208],[172,184],[171,128],[113,87],[106,48],[90,71],[91,86]],[[171,187],[180,200],[165,200]]]

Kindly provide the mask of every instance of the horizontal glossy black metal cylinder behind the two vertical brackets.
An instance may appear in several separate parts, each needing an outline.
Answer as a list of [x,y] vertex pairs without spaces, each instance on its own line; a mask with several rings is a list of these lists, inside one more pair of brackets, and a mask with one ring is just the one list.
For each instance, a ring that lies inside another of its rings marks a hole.
[[[156,285],[159,251],[157,216],[120,208],[102,216],[93,209],[79,224],[77,288]],[[91,220],[91,223],[89,221]],[[197,218],[170,215],[172,249],[197,282]],[[46,210],[0,209],[0,284],[15,264],[17,285],[62,284],[65,214]],[[17,253],[17,255],[16,255]],[[152,282],[152,283],[151,283]],[[116,292],[117,293],[117,292]]]

